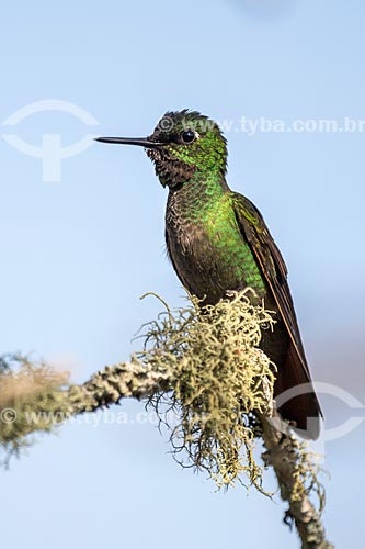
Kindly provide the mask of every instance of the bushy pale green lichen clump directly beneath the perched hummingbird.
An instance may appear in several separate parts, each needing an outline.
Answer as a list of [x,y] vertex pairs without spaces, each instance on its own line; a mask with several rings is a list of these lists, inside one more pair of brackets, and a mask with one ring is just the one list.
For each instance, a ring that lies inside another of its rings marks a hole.
[[247,474],[261,489],[262,469],[253,458],[260,433],[255,412],[267,413],[273,399],[275,367],[258,348],[261,329],[273,320],[252,306],[249,292],[230,300],[174,314],[167,307],[148,326],[147,348],[138,359],[173,373],[173,391],[149,401],[161,419],[173,410],[171,441],[184,466],[208,471],[218,488]]

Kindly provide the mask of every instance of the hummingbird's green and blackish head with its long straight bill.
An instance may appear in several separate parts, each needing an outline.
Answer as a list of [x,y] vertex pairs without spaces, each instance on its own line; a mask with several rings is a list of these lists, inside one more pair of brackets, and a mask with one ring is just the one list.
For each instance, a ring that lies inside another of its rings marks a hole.
[[167,112],[146,138],[100,137],[103,143],[139,145],[155,164],[163,187],[183,184],[196,173],[223,178],[227,142],[216,122],[187,109]]

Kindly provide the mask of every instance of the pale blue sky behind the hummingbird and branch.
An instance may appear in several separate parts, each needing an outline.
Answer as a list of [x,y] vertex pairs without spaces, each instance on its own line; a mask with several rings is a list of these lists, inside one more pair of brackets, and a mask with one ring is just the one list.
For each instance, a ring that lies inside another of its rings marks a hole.
[[[228,181],[260,208],[288,264],[313,377],[360,401],[364,131],[250,136],[240,121],[365,120],[364,15],[360,0],[35,0],[8,2],[0,33],[1,135],[36,146],[45,134],[65,146],[88,133],[142,136],[182,108],[233,122]],[[49,99],[99,125],[55,111],[3,124]],[[166,191],[132,147],[93,144],[62,160],[59,182],[43,181],[42,161],[4,137],[0,158],[1,351],[34,351],[80,382],[128,357],[140,324],[159,312],[142,293],[182,303],[164,254]],[[322,402],[329,426],[351,415],[333,397]],[[4,547],[297,546],[278,500],[215,493],[204,474],[174,463],[155,425],[136,422],[141,404],[123,410],[128,424],[62,426],[0,472]],[[326,442],[324,518],[338,547],[350,533],[362,547],[363,440],[361,425]]]

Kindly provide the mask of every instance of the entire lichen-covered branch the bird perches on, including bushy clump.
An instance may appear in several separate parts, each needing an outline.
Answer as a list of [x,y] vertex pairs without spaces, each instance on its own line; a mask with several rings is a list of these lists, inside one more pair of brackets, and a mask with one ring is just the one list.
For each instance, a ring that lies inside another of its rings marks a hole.
[[[324,501],[317,470],[303,442],[275,415],[275,366],[258,348],[274,321],[252,306],[246,290],[202,309],[191,298],[182,310],[164,306],[144,326],[141,350],[128,362],[95,373],[82,385],[55,373],[45,362],[23,356],[0,359],[0,448],[8,458],[77,414],[92,413],[122,399],[144,400],[170,429],[175,459],[205,470],[218,488],[239,481],[263,486],[263,469],[273,467],[281,496],[288,502],[304,549],[329,549],[320,518]],[[174,412],[168,425],[166,412]],[[264,441],[263,462],[256,442]],[[270,494],[271,495],[271,494]],[[311,502],[319,500],[318,509]]]

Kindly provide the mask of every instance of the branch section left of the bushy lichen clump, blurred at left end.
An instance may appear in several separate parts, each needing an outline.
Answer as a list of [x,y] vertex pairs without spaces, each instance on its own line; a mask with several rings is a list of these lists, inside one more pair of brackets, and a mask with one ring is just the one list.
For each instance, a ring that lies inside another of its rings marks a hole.
[[171,372],[136,359],[106,367],[82,385],[67,373],[22,355],[0,359],[0,448],[8,463],[12,455],[30,445],[30,435],[53,430],[68,418],[95,412],[122,399],[147,399],[167,391]]

